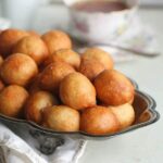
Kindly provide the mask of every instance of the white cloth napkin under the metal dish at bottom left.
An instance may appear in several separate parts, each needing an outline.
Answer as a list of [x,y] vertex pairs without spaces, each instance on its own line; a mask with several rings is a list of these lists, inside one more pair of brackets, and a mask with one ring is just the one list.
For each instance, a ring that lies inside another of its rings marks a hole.
[[67,138],[52,154],[45,155],[28,131],[22,130],[18,135],[21,137],[0,124],[0,163],[76,163],[87,143]]

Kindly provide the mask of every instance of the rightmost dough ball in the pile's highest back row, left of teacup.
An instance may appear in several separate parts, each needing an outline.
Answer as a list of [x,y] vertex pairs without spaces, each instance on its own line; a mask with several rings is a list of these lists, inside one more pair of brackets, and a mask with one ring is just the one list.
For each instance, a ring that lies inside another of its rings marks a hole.
[[50,30],[41,36],[42,40],[46,42],[49,53],[53,54],[60,49],[71,49],[72,41],[68,35],[61,30]]

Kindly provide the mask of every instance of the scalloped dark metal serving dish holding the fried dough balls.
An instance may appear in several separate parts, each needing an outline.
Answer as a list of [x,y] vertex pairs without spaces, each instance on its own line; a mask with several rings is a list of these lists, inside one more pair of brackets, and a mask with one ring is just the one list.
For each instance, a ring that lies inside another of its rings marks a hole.
[[64,140],[66,138],[87,139],[87,140],[109,139],[151,125],[160,118],[160,114],[155,111],[156,103],[153,100],[153,98],[151,98],[149,95],[142,91],[139,91],[136,83],[134,83],[134,85],[136,88],[135,101],[133,103],[136,113],[135,123],[128,128],[113,135],[95,136],[84,131],[75,131],[75,133],[54,131],[45,128],[42,126],[39,126],[33,122],[28,122],[26,120],[12,118],[4,116],[2,114],[0,114],[0,121],[16,134],[17,128],[22,131],[28,131],[36,139],[36,141],[39,142],[40,151],[46,154],[52,153],[58,146],[64,143]]

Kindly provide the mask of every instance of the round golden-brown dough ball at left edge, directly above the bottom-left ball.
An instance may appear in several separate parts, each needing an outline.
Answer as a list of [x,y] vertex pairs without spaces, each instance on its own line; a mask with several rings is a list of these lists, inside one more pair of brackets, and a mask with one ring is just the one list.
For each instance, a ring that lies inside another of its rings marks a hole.
[[0,76],[7,84],[26,86],[37,73],[37,65],[32,58],[14,53],[4,60]]

